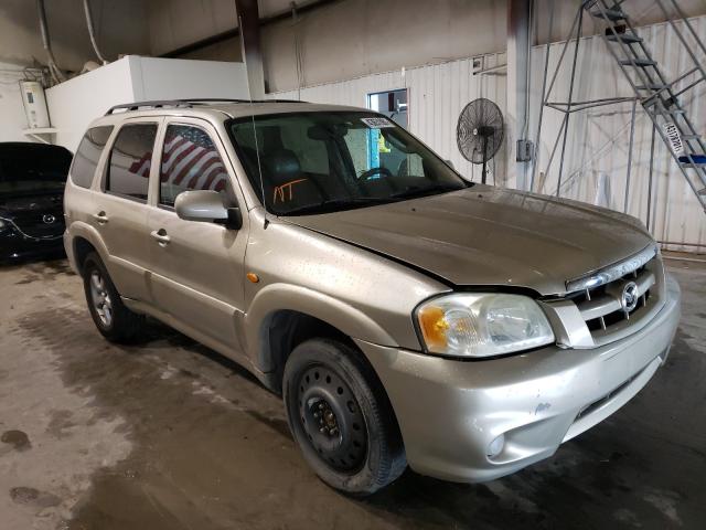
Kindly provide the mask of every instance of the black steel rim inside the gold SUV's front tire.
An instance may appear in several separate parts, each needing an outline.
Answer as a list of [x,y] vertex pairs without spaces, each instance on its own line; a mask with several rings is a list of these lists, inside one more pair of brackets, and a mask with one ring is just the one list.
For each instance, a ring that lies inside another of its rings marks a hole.
[[365,418],[349,385],[335,371],[313,364],[297,384],[299,422],[309,445],[336,471],[356,473],[367,456]]

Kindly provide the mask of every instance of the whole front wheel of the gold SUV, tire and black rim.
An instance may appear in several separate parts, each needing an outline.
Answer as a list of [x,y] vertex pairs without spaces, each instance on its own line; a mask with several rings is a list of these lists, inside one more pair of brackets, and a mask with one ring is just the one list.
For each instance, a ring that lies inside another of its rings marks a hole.
[[329,486],[366,496],[406,469],[392,405],[360,352],[331,339],[302,342],[287,359],[282,386],[295,439]]

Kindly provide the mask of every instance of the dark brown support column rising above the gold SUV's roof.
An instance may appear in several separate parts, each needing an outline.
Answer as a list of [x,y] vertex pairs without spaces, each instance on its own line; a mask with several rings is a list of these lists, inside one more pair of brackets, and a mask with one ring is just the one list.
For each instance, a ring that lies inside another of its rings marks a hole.
[[257,0],[235,0],[240,29],[240,55],[247,70],[250,99],[265,98],[265,71],[260,49],[260,17]]

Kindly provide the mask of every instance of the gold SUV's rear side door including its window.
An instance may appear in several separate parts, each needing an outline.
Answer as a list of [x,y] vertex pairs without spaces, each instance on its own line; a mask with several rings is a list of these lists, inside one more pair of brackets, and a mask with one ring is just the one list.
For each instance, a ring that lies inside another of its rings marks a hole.
[[121,296],[148,300],[148,190],[162,118],[126,120],[114,135],[90,223],[108,250],[106,266]]

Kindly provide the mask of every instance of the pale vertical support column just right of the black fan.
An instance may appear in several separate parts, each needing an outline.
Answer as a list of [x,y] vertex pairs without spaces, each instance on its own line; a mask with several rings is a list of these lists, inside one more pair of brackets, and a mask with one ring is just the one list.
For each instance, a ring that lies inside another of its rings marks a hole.
[[531,161],[518,140],[530,139],[527,98],[530,86],[531,0],[507,2],[507,179],[518,190],[530,189]]

